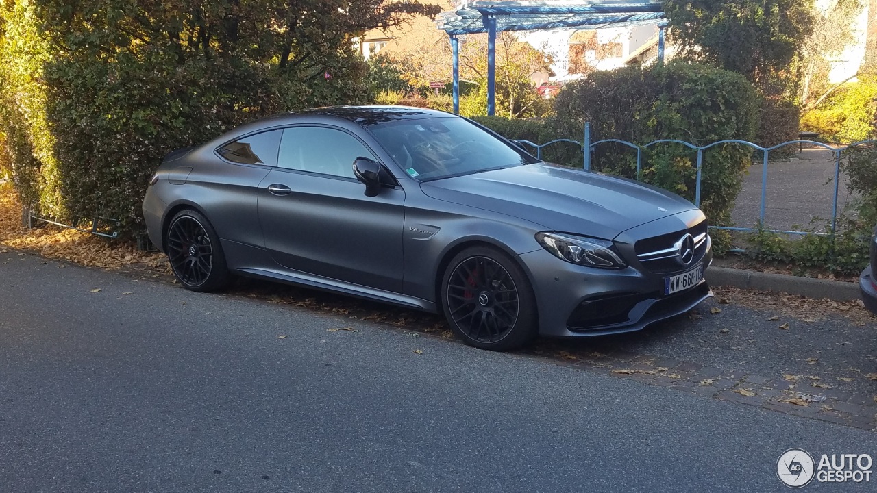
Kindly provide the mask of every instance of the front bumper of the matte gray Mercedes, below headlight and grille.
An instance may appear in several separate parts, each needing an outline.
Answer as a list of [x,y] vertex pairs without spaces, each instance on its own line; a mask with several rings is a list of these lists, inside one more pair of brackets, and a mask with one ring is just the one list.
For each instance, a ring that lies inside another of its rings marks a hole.
[[633,332],[691,310],[709,297],[701,281],[664,296],[664,278],[700,263],[704,272],[711,250],[680,272],[651,273],[635,268],[585,268],[561,261],[545,250],[519,255],[528,270],[538,305],[539,333],[546,337],[588,337]]

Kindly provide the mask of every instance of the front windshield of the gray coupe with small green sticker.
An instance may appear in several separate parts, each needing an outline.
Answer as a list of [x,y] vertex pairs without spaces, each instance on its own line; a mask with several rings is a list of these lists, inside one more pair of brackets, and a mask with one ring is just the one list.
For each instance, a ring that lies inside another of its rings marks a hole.
[[463,118],[399,120],[368,128],[405,173],[418,180],[528,164],[524,154]]

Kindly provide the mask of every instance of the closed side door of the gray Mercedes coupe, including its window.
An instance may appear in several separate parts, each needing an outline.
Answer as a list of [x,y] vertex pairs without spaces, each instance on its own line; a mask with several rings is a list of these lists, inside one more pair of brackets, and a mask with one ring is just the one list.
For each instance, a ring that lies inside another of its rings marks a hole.
[[302,125],[283,130],[277,168],[259,190],[265,246],[285,268],[401,292],[401,187],[365,196],[353,176],[357,157],[377,158],[345,130]]

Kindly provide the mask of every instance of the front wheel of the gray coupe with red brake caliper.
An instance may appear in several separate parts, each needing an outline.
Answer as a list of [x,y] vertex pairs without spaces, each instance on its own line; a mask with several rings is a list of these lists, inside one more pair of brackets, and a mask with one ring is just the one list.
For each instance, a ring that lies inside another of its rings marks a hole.
[[448,324],[469,346],[510,351],[538,332],[536,297],[524,270],[491,247],[470,247],[448,263],[441,283]]

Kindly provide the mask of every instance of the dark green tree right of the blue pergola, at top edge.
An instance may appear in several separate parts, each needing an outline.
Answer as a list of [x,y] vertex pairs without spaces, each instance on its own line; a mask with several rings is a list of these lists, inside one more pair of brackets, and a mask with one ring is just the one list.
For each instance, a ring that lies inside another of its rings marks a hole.
[[745,75],[763,86],[800,54],[813,0],[667,0],[680,54]]

